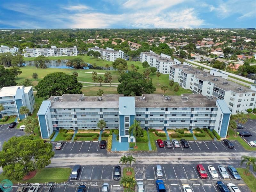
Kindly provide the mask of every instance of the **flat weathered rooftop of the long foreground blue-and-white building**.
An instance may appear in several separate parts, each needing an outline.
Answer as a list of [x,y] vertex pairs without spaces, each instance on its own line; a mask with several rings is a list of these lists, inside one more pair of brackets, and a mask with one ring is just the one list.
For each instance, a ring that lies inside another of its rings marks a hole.
[[[48,100],[52,103],[51,108],[119,108],[119,97],[134,97],[136,108],[216,107],[215,97],[210,100],[209,97],[202,94],[183,94],[183,96],[164,96],[163,94],[84,96],[83,94],[66,94],[61,97],[50,97]],[[142,97],[144,97],[143,100]],[[169,99],[166,100],[166,97]]]

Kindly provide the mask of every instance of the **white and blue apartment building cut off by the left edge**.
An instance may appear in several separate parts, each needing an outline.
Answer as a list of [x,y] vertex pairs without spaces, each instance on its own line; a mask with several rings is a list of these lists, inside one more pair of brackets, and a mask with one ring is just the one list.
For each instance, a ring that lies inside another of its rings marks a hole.
[[25,115],[20,114],[21,106],[26,106],[31,113],[34,110],[33,88],[24,86],[3,87],[0,89],[0,104],[4,106],[0,118],[2,116],[17,115],[19,119],[23,119]]

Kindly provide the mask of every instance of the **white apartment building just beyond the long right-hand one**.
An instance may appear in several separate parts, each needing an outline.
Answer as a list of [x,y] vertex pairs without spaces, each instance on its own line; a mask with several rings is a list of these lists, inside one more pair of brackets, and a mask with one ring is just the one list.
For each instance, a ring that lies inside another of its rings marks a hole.
[[171,59],[171,56],[161,53],[161,55],[156,54],[153,51],[141,52],[140,62],[147,61],[150,67],[155,67],[157,71],[162,74],[169,74],[170,66],[174,64],[181,64],[180,61]]

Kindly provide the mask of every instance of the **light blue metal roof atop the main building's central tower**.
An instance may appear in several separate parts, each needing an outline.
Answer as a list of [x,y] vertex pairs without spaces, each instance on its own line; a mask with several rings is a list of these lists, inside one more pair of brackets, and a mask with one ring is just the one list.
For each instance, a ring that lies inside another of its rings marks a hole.
[[119,115],[135,115],[134,97],[119,97]]

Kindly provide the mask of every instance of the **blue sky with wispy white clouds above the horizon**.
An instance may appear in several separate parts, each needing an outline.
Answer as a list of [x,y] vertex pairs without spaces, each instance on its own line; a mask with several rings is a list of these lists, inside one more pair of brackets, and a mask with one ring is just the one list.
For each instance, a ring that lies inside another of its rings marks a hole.
[[256,0],[1,0],[0,28],[249,28]]

